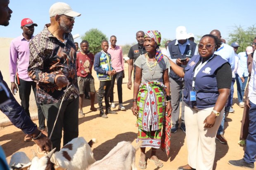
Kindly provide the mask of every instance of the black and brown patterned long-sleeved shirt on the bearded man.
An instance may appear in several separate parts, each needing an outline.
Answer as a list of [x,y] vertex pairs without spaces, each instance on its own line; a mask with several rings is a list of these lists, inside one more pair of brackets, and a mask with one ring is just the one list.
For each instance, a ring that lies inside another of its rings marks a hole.
[[56,75],[65,75],[69,79],[69,88],[64,100],[79,96],[76,76],[76,48],[71,33],[64,35],[64,42],[59,41],[50,33],[46,24],[43,31],[30,42],[30,59],[28,76],[35,82],[36,100],[38,103],[49,104],[61,102],[64,90],[58,90],[55,84]]

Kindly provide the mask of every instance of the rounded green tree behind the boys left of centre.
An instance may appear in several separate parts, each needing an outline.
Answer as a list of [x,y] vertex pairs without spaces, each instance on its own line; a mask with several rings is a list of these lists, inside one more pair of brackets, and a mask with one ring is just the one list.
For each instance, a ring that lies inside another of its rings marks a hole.
[[94,55],[101,50],[102,40],[108,41],[107,36],[97,28],[92,28],[86,31],[86,33],[83,36],[81,36],[81,39],[87,40],[89,42],[89,50]]

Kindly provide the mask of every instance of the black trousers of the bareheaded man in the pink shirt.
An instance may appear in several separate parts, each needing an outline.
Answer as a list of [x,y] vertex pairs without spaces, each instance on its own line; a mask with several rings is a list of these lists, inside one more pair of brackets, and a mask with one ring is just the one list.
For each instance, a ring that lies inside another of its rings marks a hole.
[[117,72],[115,75],[112,76],[112,84],[111,84],[111,90],[110,90],[110,102],[114,102],[114,86],[115,86],[115,81],[117,82],[117,93],[118,93],[118,101],[119,104],[123,103],[123,89],[122,89],[122,84],[123,84],[123,71]]

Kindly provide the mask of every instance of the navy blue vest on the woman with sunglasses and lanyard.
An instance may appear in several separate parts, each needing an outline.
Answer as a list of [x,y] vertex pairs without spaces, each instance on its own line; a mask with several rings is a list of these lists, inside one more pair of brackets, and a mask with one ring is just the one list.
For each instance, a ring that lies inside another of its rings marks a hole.
[[194,68],[200,59],[199,55],[193,56],[185,68],[185,88],[183,90],[183,101],[191,108],[205,109],[213,107],[219,96],[216,70],[223,64],[228,63],[221,56],[214,57],[204,65],[195,78],[194,90],[196,91],[196,101],[190,101],[190,91],[192,91],[192,81]]

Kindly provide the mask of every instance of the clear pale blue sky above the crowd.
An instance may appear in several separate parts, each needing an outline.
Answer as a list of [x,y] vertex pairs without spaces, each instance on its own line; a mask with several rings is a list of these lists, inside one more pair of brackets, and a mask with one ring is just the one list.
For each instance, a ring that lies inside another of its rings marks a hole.
[[[10,0],[13,10],[8,27],[0,27],[0,37],[21,35],[20,22],[30,18],[35,33],[49,23],[50,6],[58,0]],[[185,26],[188,33],[205,35],[218,29],[224,39],[235,25],[247,28],[256,24],[255,0],[62,0],[82,15],[77,17],[72,34],[83,35],[98,28],[109,38],[116,35],[117,44],[135,43],[138,30],[159,30],[162,38],[175,39],[175,29]],[[75,41],[81,42],[78,38]]]

